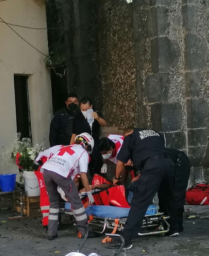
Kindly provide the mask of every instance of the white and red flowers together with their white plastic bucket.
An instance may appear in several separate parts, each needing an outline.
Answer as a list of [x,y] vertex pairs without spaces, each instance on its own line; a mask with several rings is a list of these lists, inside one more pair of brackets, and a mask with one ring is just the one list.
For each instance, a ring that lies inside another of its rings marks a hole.
[[4,161],[8,160],[16,164],[19,168],[20,183],[24,181],[25,193],[27,196],[39,196],[39,183],[33,170],[33,161],[40,152],[42,147],[38,144],[32,147],[31,139],[21,139],[21,134],[17,133],[16,140],[10,144],[6,153],[3,153]]

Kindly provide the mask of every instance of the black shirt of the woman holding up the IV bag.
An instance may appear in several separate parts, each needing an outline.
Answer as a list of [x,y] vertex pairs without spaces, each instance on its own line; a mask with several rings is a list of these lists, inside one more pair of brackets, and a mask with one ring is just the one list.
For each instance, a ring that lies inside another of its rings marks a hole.
[[[97,114],[99,117],[105,119],[101,113],[97,112]],[[91,136],[93,137],[94,144],[96,145],[99,145],[100,127],[101,127],[100,123],[94,119],[94,122],[92,124]],[[88,132],[89,134],[91,134],[91,128],[87,119],[79,111],[78,115],[73,119],[72,133],[78,135],[83,132]]]

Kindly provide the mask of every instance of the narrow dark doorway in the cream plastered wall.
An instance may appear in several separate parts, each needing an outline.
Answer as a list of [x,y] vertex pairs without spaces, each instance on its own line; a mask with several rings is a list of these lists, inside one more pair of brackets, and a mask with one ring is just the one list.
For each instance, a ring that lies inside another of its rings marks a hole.
[[32,139],[27,81],[27,76],[14,75],[17,132],[21,133],[21,138]]

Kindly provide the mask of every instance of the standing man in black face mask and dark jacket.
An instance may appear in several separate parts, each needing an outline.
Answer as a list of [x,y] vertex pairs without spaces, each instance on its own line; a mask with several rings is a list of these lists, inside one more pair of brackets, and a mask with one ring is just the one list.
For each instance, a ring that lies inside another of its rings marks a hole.
[[67,107],[58,110],[51,122],[49,132],[50,146],[70,145],[72,137],[72,122],[78,113],[78,96],[74,93],[68,94]]

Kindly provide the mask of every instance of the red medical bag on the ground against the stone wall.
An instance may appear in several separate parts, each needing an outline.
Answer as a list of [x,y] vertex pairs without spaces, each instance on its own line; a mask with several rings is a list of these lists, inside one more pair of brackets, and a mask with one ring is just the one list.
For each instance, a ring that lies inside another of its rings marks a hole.
[[206,182],[196,183],[186,191],[186,204],[209,205],[209,185]]

